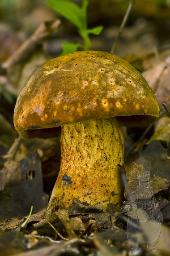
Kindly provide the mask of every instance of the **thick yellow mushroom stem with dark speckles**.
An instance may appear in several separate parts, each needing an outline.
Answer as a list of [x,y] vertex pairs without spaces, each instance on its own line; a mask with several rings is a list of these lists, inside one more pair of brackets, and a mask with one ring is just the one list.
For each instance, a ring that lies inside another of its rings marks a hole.
[[115,117],[62,126],[61,166],[48,211],[70,207],[76,198],[90,205],[122,202],[119,164],[124,135]]

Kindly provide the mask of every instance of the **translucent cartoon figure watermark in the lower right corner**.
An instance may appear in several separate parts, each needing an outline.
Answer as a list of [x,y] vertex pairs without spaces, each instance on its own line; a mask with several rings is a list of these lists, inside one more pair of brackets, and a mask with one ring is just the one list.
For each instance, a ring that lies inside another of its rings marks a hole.
[[136,251],[141,243],[147,244],[147,250],[156,250],[153,246],[159,239],[163,222],[157,200],[150,190],[150,172],[144,172],[138,180],[139,185],[124,207],[128,215],[127,239],[132,246],[131,252]]

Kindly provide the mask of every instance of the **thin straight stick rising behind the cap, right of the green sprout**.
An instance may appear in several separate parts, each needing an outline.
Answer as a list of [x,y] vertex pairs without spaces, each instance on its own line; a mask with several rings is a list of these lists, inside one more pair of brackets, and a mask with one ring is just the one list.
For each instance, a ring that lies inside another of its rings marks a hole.
[[116,35],[115,42],[114,42],[114,44],[112,46],[112,49],[110,51],[111,54],[115,53],[115,49],[116,49],[116,46],[117,46],[118,41],[119,41],[119,36],[122,34],[123,28],[126,25],[126,22],[127,22],[128,17],[129,17],[129,14],[131,12],[131,9],[132,9],[132,6],[134,4],[134,1],[135,0],[131,0],[130,3],[129,3],[129,6],[128,6],[127,11],[126,11],[126,14],[125,14],[125,16],[123,18],[123,22],[122,22],[121,26],[119,27],[118,34]]

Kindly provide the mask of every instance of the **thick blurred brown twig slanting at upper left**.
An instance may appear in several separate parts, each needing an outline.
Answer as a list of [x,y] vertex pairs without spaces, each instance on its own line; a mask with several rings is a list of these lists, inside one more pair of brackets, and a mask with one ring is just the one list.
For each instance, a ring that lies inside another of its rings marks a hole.
[[23,44],[21,44],[21,46],[2,64],[2,67],[9,69],[15,64],[26,60],[34,51],[35,47],[42,43],[47,36],[51,35],[59,24],[59,19],[41,23],[33,35],[31,35]]

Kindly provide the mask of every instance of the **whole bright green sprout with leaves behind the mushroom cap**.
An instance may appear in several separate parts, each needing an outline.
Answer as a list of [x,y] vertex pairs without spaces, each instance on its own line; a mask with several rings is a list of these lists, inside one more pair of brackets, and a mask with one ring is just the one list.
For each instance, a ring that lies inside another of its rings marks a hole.
[[95,26],[87,28],[87,0],[83,0],[82,7],[69,0],[49,0],[46,5],[56,12],[63,15],[70,22],[72,22],[78,29],[78,33],[84,40],[84,45],[74,43],[63,43],[63,52],[60,56],[67,53],[76,52],[78,48],[82,50],[89,50],[90,38],[89,34],[99,35],[102,32],[103,26]]

